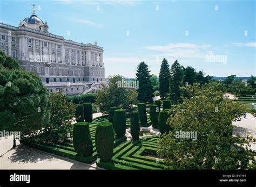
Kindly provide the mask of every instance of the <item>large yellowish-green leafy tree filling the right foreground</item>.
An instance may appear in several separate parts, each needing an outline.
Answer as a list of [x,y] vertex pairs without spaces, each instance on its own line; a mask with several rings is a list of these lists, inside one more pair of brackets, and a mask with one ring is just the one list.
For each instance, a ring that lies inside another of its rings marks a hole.
[[253,138],[232,136],[232,121],[240,120],[244,106],[224,99],[215,84],[194,83],[186,88],[192,97],[174,107],[167,120],[173,130],[159,141],[166,169],[247,169],[255,163]]

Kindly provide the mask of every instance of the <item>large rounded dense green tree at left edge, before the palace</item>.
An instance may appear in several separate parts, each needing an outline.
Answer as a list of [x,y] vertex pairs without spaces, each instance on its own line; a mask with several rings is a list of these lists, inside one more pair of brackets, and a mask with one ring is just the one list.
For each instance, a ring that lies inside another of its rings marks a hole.
[[[0,51],[0,131],[29,133],[50,118],[49,91],[35,73]],[[14,147],[16,147],[14,139]]]

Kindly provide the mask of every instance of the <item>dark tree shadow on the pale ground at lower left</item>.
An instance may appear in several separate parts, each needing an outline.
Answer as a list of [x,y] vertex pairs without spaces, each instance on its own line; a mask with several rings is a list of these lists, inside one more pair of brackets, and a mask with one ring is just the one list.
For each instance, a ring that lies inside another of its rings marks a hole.
[[51,155],[39,152],[37,150],[25,148],[22,146],[17,146],[17,148],[15,149],[16,149],[15,152],[8,157],[8,160],[10,160],[10,162],[37,163],[43,160],[51,161],[56,159]]

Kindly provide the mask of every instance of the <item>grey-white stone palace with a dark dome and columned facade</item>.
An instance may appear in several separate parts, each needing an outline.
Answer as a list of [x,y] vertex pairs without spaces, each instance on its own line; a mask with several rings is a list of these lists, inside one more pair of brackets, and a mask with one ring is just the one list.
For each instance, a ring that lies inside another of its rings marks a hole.
[[48,31],[33,9],[18,27],[0,23],[0,50],[37,73],[52,92],[69,95],[97,92],[105,84],[103,48],[66,40]]

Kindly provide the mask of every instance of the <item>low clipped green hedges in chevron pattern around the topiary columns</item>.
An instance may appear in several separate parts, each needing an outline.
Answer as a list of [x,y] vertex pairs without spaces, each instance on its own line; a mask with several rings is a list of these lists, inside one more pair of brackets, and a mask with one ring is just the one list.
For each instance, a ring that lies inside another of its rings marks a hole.
[[[97,151],[95,146],[95,132],[98,123],[108,122],[108,117],[98,117],[89,123],[93,153],[90,156],[80,156],[75,152],[73,142],[67,140],[59,143],[38,143],[31,144],[22,142],[23,145],[43,150],[48,153],[56,154],[63,157],[68,157],[72,160],[77,160],[85,163],[92,163],[97,160]],[[150,119],[147,116],[147,123],[150,126]],[[126,119],[126,127],[130,127],[130,118]],[[114,134],[114,151],[111,162],[100,162],[97,160],[97,165],[105,169],[164,169],[163,160],[145,156],[145,154],[157,155],[158,136],[149,136],[140,138],[137,141],[126,141],[126,137],[117,138]]]

